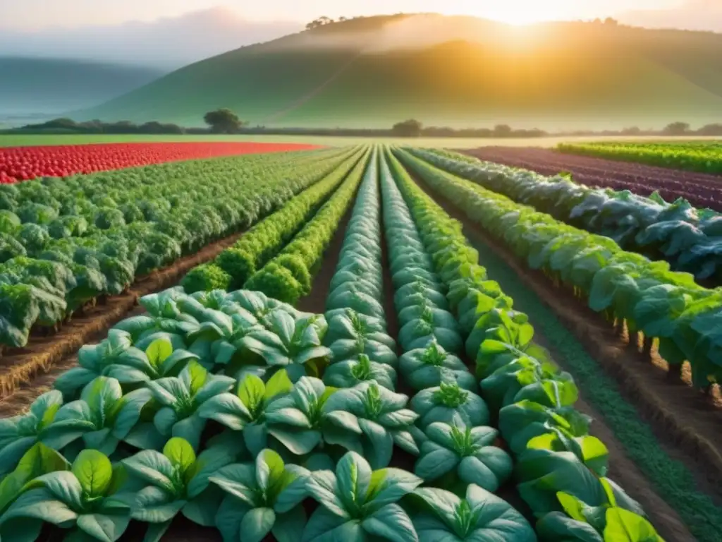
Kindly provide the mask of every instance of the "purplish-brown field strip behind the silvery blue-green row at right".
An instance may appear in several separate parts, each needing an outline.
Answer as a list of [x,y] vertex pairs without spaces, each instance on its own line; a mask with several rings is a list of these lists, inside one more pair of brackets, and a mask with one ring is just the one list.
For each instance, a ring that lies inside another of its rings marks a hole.
[[722,178],[707,173],[591,158],[538,147],[481,147],[459,152],[543,175],[566,171],[572,173],[575,181],[587,186],[630,190],[643,196],[656,190],[667,201],[684,197],[695,207],[722,210]]

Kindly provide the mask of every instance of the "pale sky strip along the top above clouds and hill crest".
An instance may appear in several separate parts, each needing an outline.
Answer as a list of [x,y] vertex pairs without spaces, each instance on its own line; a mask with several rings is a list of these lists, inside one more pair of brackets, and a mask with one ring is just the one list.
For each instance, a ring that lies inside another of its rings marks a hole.
[[705,1],[710,0],[0,0],[0,28],[22,31],[149,22],[212,7],[233,9],[245,20],[305,22],[321,15],[440,12],[523,24],[679,9],[687,4],[698,7]]

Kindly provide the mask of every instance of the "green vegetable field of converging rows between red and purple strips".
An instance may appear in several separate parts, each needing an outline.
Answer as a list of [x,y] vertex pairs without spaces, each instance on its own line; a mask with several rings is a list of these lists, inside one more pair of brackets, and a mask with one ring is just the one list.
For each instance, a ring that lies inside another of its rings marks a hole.
[[717,260],[695,282],[478,164],[0,186],[0,538],[718,540]]

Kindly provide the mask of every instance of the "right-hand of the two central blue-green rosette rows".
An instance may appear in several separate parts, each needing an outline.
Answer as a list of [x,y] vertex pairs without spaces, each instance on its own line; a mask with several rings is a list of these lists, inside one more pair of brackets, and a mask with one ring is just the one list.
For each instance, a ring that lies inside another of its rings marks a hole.
[[[394,307],[401,327],[399,378],[414,392],[409,402],[415,414],[409,433],[418,449],[414,473],[435,486],[420,490],[430,513],[422,518],[411,514],[412,525],[422,541],[433,535],[534,541],[529,522],[493,494],[510,477],[512,461],[494,445],[498,431],[487,426],[487,405],[456,356],[463,342],[456,320],[446,310],[445,285],[384,157],[380,182]],[[397,444],[412,451],[403,441]],[[498,530],[502,517],[505,527]]]

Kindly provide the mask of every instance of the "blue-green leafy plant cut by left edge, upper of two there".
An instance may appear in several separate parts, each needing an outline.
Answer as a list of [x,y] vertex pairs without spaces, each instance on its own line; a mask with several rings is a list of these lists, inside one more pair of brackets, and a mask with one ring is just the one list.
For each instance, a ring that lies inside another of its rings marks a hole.
[[52,390],[35,399],[27,413],[0,418],[0,476],[13,470],[25,452],[43,440],[62,405],[63,395]]

